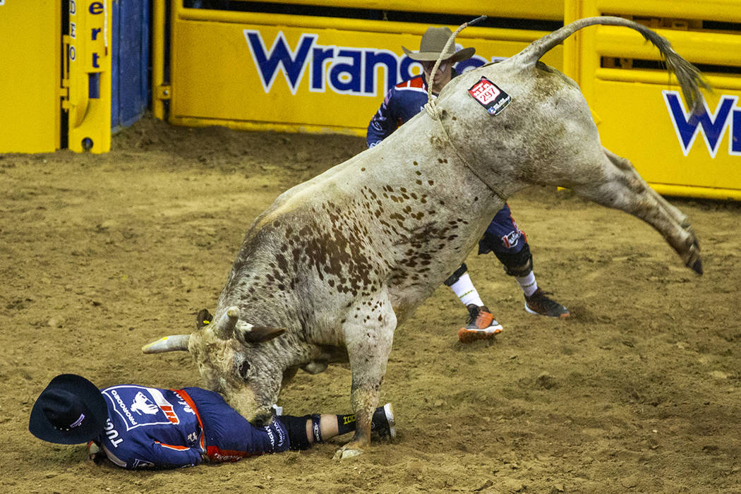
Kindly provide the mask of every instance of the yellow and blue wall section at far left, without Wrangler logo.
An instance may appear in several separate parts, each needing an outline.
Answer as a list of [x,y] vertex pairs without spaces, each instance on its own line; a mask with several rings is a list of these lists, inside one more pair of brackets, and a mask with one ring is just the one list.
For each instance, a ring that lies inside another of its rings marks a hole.
[[147,108],[149,0],[0,0],[0,153],[106,153]]

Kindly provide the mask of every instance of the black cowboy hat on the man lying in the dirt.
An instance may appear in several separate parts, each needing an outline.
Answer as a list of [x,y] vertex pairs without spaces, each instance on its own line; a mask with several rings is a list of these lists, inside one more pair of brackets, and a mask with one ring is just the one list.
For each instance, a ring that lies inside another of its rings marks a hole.
[[100,435],[108,418],[105,398],[95,384],[80,375],[53,378],[36,399],[28,430],[57,444],[79,444]]

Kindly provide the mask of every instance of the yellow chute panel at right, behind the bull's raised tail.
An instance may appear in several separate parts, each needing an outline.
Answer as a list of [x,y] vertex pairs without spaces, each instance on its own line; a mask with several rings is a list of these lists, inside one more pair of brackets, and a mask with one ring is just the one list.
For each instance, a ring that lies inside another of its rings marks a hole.
[[[566,22],[613,15],[648,25],[714,87],[688,114],[659,50],[625,27],[587,27],[565,41],[602,143],[630,159],[659,193],[741,199],[741,0],[566,0]],[[737,29],[737,27],[736,27]]]

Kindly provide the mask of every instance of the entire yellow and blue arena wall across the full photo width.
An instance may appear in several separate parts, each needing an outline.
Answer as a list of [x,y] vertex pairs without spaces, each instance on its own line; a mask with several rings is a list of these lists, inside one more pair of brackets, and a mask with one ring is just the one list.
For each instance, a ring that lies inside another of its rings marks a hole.
[[0,0],[0,152],[104,153],[111,129],[142,115],[147,90],[173,124],[362,136],[388,89],[421,70],[401,47],[416,50],[429,25],[488,16],[456,40],[476,47],[457,67],[468,70],[564,22],[614,15],[700,67],[714,87],[702,114],[688,115],[658,50],[632,30],[588,27],[543,61],[579,83],[605,147],[660,193],[741,199],[741,0],[152,0],[149,10],[149,0]]

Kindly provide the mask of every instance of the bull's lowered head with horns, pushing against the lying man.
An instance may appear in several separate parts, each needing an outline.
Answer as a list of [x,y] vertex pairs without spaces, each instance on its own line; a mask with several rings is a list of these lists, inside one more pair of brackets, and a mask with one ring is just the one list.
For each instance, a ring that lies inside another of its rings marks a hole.
[[[283,368],[276,350],[266,341],[285,329],[254,326],[239,320],[239,307],[225,310],[215,321],[207,310],[198,315],[190,335],[165,336],[144,345],[144,353],[185,350],[198,364],[206,387],[225,395],[227,402],[250,422],[270,420],[278,399]],[[268,351],[266,351],[268,350]]]

